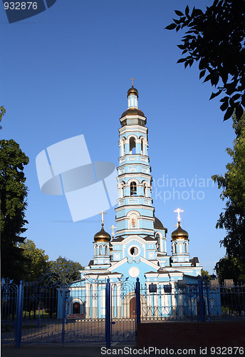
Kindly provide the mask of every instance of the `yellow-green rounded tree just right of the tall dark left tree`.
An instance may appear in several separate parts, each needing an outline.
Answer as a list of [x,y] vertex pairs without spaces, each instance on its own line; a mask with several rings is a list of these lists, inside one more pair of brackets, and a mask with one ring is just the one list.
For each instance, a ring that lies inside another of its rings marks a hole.
[[37,248],[31,239],[26,239],[19,246],[26,258],[24,280],[38,281],[48,269],[48,256],[43,249]]

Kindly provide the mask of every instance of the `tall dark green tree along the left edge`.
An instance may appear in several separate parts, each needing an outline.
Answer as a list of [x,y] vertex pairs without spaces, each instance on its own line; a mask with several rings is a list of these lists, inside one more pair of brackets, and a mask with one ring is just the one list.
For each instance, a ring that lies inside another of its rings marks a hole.
[[25,231],[27,187],[24,165],[28,157],[13,139],[0,141],[1,276],[19,280],[26,261],[19,243]]

